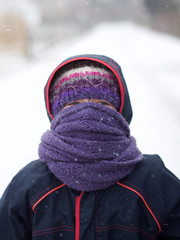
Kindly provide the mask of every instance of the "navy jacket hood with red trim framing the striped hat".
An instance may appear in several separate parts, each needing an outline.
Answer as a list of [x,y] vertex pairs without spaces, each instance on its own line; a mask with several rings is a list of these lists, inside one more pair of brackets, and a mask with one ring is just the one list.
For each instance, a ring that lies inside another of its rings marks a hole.
[[52,79],[55,76],[55,73],[57,71],[60,71],[60,69],[64,67],[66,64],[71,63],[73,61],[78,61],[78,60],[90,60],[90,61],[99,62],[104,66],[108,67],[114,73],[119,83],[120,95],[121,95],[121,105],[120,105],[119,113],[122,114],[122,116],[130,124],[132,119],[132,107],[131,107],[130,97],[129,97],[128,89],[126,86],[126,82],[125,82],[121,67],[112,58],[102,56],[102,55],[94,55],[94,54],[83,54],[83,55],[77,55],[77,56],[67,58],[62,63],[60,63],[49,76],[47,84],[44,88],[44,97],[45,97],[46,110],[47,110],[47,114],[50,121],[53,119],[53,116],[50,111],[50,103],[49,103],[49,89],[52,83]]

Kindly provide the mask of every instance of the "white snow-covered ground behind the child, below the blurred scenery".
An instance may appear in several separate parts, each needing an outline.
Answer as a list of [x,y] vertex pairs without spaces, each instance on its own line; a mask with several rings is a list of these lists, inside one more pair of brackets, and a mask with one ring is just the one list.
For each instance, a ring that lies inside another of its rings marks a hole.
[[107,55],[122,66],[134,110],[132,135],[143,153],[159,154],[180,177],[180,40],[129,22],[103,23],[36,61],[0,56],[0,196],[17,171],[38,158],[49,128],[48,76],[64,58],[81,53]]

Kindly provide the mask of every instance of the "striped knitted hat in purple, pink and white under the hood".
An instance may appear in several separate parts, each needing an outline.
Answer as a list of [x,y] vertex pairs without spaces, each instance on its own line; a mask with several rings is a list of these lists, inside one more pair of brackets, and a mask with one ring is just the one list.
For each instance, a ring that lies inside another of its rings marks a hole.
[[57,71],[50,86],[50,108],[55,116],[67,103],[83,98],[104,99],[120,108],[120,90],[115,75],[104,65],[74,61]]

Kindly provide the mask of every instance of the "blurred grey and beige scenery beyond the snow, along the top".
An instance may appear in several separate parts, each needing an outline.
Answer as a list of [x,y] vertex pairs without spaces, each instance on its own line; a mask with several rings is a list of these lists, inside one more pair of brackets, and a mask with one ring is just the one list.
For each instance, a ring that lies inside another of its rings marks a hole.
[[180,36],[179,0],[0,0],[0,52],[39,56],[101,22],[133,21]]

